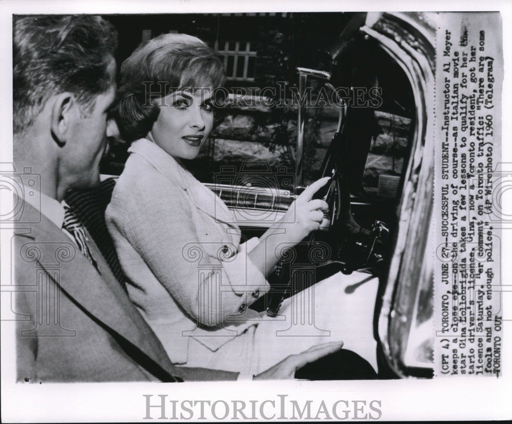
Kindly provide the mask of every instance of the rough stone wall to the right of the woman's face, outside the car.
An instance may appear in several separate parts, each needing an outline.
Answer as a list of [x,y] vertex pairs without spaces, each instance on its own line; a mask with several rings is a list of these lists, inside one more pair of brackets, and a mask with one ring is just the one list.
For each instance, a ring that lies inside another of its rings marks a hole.
[[[314,171],[321,166],[336,132],[337,116],[326,112],[310,116],[305,124],[307,180],[316,178]],[[369,195],[377,194],[379,175],[401,175],[411,133],[409,118],[380,111],[375,112],[375,118],[380,134],[372,140],[363,176],[363,186]],[[286,135],[286,142],[276,142],[275,135],[279,132]],[[219,172],[223,164],[239,166],[262,161],[272,169],[285,166],[289,172],[295,172],[292,158],[295,157],[296,119],[272,122],[269,117],[265,120],[249,114],[228,114],[214,134],[215,146],[210,152],[204,149],[200,155],[203,160],[209,156],[209,166],[214,172]]]

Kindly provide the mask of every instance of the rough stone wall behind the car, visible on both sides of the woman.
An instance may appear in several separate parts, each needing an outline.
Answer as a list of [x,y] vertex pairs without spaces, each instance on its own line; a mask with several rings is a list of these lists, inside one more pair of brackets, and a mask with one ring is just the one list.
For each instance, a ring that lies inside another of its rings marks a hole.
[[[315,171],[321,166],[336,132],[337,113],[335,108],[308,112],[305,123],[307,182],[317,177]],[[375,111],[375,118],[379,134],[371,142],[362,181],[371,196],[377,195],[379,175],[401,175],[411,136],[411,119],[380,111]],[[294,174],[296,136],[296,108],[227,110],[198,158],[187,165],[205,182],[214,182],[222,166],[233,165],[240,169],[243,163],[265,162],[274,172],[286,167],[288,173]],[[102,172],[119,174],[126,149],[125,144],[117,142],[110,161],[103,162]]]

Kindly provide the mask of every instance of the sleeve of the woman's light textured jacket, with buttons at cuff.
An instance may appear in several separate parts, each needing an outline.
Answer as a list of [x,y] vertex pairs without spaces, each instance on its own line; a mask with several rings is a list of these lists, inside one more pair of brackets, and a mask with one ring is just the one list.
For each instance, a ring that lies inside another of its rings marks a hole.
[[119,180],[107,210],[111,233],[114,227],[201,324],[219,325],[268,291],[268,282],[249,260],[244,244],[199,240],[183,188],[158,172],[122,183]]

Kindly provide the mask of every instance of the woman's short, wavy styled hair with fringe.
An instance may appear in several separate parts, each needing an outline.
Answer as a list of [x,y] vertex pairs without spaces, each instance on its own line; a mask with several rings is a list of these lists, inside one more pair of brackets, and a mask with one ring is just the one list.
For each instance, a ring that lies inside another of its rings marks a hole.
[[217,88],[224,80],[222,61],[199,38],[170,33],[151,39],[121,65],[115,110],[121,137],[145,137],[158,118],[159,99],[173,90]]

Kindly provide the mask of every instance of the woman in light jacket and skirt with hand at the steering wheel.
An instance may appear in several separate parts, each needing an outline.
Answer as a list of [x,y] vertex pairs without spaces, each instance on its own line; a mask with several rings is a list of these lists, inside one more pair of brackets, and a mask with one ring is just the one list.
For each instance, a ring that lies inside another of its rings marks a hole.
[[[181,163],[195,158],[208,137],[212,95],[223,81],[215,53],[185,34],[156,37],[124,61],[116,118],[121,136],[133,144],[106,221],[130,297],[170,359],[257,374],[290,354],[342,340],[348,328],[318,327],[290,343],[276,336],[290,327],[290,301],[276,319],[248,308],[269,289],[265,276],[279,259],[275,252],[319,228],[327,204],[311,198],[328,178],[311,184],[260,239],[241,242],[226,205]],[[327,287],[333,283],[321,284],[326,287],[315,289],[312,313],[317,323],[328,309],[326,326],[339,309],[333,296],[343,293],[339,284],[335,292]],[[329,292],[322,295],[324,288]],[[361,312],[370,326],[372,312]]]

